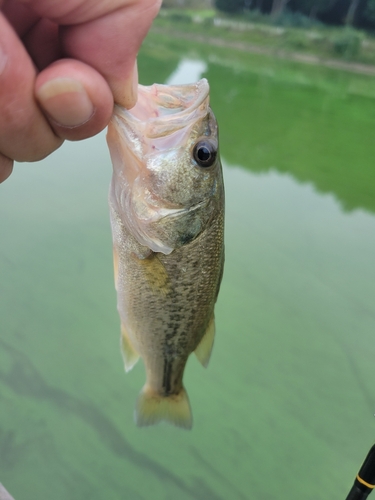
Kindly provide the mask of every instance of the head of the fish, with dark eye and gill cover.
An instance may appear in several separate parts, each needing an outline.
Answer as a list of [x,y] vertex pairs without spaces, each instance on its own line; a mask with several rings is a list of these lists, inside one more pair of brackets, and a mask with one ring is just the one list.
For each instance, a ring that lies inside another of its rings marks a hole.
[[107,141],[111,202],[140,244],[169,254],[204,231],[223,203],[207,80],[139,85],[134,108],[115,107]]

